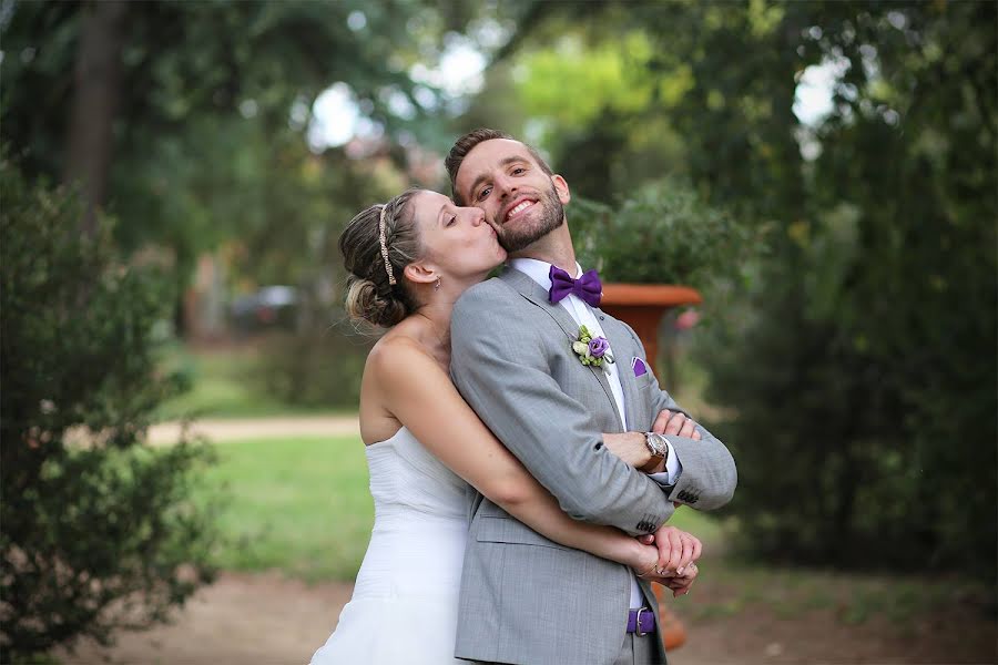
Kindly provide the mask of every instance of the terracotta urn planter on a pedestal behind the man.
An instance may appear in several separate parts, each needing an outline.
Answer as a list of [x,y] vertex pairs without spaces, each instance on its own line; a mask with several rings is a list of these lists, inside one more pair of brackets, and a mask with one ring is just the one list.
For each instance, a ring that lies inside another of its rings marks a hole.
[[[659,357],[659,327],[662,317],[673,307],[699,305],[700,294],[686,286],[663,286],[652,284],[604,284],[600,308],[612,317],[627,323],[644,345],[645,358],[659,380],[662,372],[655,367]],[[686,642],[686,628],[675,614],[665,606],[669,593],[664,586],[654,586],[659,598],[659,616],[662,617],[662,642],[665,649],[673,649]]]

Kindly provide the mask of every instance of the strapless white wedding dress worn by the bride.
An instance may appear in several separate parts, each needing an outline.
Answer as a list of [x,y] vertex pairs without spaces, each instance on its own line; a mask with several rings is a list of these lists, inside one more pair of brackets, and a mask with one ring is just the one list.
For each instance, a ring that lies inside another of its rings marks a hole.
[[406,428],[366,454],[370,544],[354,596],[312,665],[464,665],[454,646],[475,491]]

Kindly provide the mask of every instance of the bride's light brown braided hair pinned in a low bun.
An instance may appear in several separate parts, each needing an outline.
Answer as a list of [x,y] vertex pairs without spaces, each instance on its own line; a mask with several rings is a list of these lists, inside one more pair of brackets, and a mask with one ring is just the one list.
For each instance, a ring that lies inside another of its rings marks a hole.
[[[339,236],[343,264],[350,273],[346,311],[352,318],[389,328],[416,311],[417,303],[405,284],[404,272],[421,256],[413,207],[413,196],[418,192],[408,190],[384,205],[360,211]],[[386,254],[395,284],[389,280]]]

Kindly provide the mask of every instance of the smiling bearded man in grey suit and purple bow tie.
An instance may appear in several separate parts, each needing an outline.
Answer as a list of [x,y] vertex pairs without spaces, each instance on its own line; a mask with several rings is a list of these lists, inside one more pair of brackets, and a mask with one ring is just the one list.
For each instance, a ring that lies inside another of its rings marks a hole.
[[[599,309],[598,278],[576,263],[564,178],[493,130],[459,139],[447,168],[455,201],[485,209],[510,257],[498,278],[462,295],[451,321],[451,375],[482,421],[579,520],[637,536],[658,532],[673,502],[712,510],[730,501],[734,460],[710,432],[690,420],[684,436],[643,433],[666,410],[685,413],[659,388],[634,331]],[[579,347],[582,325],[609,348]],[[607,450],[602,432],[629,430],[656,473]],[[459,658],[665,662],[646,580],[549,541],[480,495],[459,612]]]

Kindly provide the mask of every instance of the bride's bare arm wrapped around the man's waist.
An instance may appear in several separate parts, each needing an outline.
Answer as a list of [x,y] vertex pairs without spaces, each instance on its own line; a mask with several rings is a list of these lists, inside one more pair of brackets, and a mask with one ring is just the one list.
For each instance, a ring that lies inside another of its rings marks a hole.
[[[577,521],[562,512],[551,493],[492,436],[440,366],[415,342],[383,340],[368,362],[386,408],[437,459],[505,511],[554,542],[622,563],[639,574],[658,564],[656,548],[612,526]],[[552,423],[551,436],[558,436],[557,423]]]

